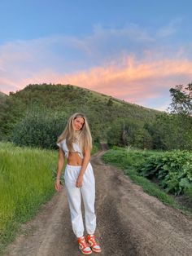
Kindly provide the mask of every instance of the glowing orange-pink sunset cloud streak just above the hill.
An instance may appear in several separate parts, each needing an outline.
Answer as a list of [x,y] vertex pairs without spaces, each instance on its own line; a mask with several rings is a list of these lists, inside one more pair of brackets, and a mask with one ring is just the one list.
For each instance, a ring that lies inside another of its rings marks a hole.
[[[189,60],[145,62],[127,57],[121,64],[94,67],[78,73],[63,75],[53,70],[45,70],[33,73],[30,78],[23,78],[17,84],[20,85],[20,89],[30,83],[72,84],[145,105],[150,99],[168,96],[170,87],[189,83],[191,77],[192,62]],[[9,84],[13,84],[11,78]]]

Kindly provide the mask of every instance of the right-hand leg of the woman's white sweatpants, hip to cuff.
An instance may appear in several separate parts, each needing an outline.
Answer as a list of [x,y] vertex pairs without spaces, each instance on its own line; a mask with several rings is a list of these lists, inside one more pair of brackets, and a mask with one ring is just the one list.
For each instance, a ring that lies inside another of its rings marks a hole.
[[94,213],[95,181],[91,164],[85,170],[81,193],[85,206],[85,226],[88,234],[94,234],[96,228],[96,216]]

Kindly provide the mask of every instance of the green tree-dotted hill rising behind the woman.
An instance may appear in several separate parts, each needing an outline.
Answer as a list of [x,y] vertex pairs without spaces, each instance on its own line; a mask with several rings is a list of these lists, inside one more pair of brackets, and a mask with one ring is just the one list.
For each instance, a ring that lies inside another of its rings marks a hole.
[[151,123],[160,113],[78,86],[28,85],[7,96],[4,106],[6,116],[0,111],[2,135],[10,136],[15,125],[34,109],[35,112],[65,113],[67,117],[76,112],[85,113],[94,139],[106,139],[111,126],[122,120],[131,120],[143,126]]

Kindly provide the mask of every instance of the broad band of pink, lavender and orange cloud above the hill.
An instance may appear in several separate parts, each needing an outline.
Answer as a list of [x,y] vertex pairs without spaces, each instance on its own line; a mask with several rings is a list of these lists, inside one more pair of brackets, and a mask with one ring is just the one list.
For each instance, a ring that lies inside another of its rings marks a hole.
[[0,90],[8,94],[29,83],[69,83],[162,108],[171,86],[191,82],[192,45],[160,41],[177,33],[176,24],[156,33],[137,24],[122,29],[98,25],[85,37],[9,42],[0,46]]

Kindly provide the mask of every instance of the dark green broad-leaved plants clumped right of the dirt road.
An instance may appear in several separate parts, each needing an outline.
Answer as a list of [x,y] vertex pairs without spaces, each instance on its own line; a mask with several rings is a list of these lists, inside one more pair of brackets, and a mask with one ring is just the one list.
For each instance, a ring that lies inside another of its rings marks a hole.
[[192,188],[192,155],[186,151],[162,152],[149,157],[137,169],[142,176],[159,180],[159,185],[175,195]]

